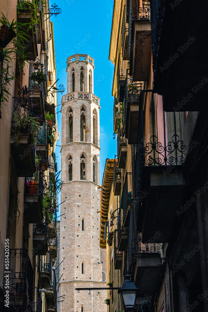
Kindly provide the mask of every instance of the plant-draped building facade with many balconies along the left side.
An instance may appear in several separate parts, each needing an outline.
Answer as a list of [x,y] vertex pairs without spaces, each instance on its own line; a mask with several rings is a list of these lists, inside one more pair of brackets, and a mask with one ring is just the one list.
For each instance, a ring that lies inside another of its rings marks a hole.
[[56,82],[56,62],[53,23],[44,18],[48,10],[49,1],[0,4],[2,312],[57,311],[52,267],[59,134],[57,95],[49,91]]

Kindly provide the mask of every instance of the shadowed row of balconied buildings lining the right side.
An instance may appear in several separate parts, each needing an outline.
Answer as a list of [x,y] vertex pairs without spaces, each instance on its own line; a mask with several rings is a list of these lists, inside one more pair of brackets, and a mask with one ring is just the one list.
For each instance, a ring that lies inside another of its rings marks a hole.
[[[100,247],[112,285],[128,274],[139,288],[137,312],[207,311],[207,30],[193,14],[190,2],[114,1],[117,158],[105,166]],[[124,311],[116,291],[108,298]]]

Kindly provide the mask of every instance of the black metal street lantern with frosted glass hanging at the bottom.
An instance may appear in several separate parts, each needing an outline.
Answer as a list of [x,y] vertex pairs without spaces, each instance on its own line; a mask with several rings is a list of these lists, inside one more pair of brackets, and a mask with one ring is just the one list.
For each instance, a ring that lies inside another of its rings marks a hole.
[[125,308],[133,308],[136,301],[136,295],[139,290],[132,280],[131,276],[126,275],[126,280],[124,280],[122,287],[118,290],[118,293],[121,295],[123,306]]

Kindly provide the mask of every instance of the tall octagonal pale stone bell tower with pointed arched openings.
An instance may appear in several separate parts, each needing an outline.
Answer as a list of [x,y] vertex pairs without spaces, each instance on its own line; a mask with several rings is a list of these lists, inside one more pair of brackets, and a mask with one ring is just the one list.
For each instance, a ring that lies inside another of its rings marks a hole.
[[[99,247],[99,98],[93,94],[94,59],[67,59],[67,94],[62,97],[60,285],[61,312],[107,311],[106,256]],[[62,301],[63,300],[63,301]]]

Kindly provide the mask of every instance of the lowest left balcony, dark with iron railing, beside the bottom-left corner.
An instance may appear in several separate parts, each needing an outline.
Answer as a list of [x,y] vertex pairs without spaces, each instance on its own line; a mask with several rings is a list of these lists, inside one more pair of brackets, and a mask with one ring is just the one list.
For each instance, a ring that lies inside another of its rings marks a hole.
[[26,311],[33,303],[33,268],[27,249],[9,249],[9,308],[8,312],[14,310]]

